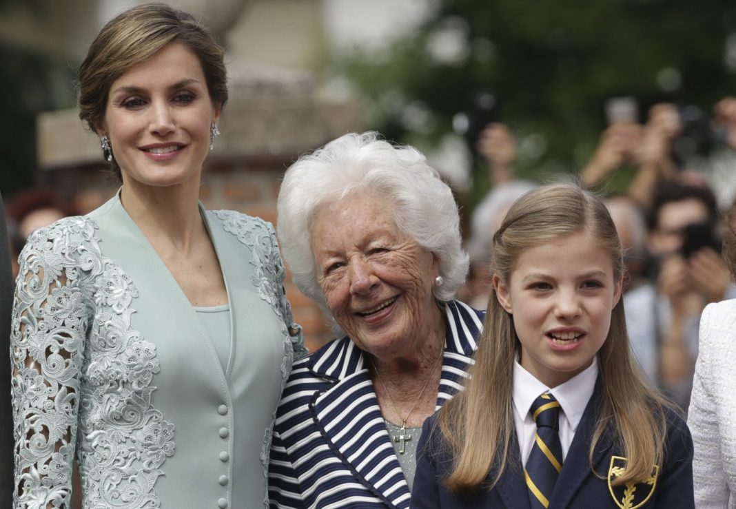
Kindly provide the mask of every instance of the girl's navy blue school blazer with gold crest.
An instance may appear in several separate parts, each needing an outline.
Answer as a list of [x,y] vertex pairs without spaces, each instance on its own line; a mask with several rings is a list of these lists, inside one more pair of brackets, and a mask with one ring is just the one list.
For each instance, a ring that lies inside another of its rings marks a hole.
[[[693,497],[693,440],[684,420],[675,413],[668,414],[668,437],[662,468],[649,483],[609,487],[609,477],[625,462],[623,453],[612,440],[612,433],[604,435],[595,447],[593,465],[603,476],[596,477],[590,469],[589,451],[595,416],[601,402],[600,378],[593,396],[583,413],[573,443],[562,463],[548,509],[568,508],[695,508]],[[417,446],[417,474],[411,493],[411,509],[425,508],[506,508],[529,509],[529,496],[519,457],[519,446],[512,444],[513,458],[509,458],[506,471],[498,484],[490,491],[479,490],[463,496],[447,490],[442,480],[452,467],[452,456],[442,445],[439,427],[431,433],[436,414],[425,421],[420,443]],[[490,476],[489,476],[490,479]]]

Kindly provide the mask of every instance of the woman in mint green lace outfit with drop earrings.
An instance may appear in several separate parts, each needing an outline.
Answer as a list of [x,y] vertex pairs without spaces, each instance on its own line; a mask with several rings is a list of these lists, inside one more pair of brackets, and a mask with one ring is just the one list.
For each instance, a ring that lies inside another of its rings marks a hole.
[[252,508],[303,353],[270,224],[198,202],[227,100],[190,15],[118,15],[79,71],[80,117],[122,187],[31,235],[11,334],[15,506]]

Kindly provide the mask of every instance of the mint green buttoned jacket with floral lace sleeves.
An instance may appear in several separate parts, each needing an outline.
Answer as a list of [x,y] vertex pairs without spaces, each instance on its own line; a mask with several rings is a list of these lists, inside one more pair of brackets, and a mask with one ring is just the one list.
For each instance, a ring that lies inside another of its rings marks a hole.
[[117,196],[29,238],[11,335],[16,507],[70,507],[75,455],[83,508],[267,502],[276,405],[305,350],[271,225],[201,213],[227,287],[220,332]]

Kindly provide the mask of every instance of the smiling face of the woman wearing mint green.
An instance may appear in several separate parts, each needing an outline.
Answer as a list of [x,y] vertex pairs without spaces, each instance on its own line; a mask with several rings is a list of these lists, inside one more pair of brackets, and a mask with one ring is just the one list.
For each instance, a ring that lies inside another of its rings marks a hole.
[[197,56],[169,43],[113,82],[96,128],[110,138],[126,187],[198,185],[218,118]]

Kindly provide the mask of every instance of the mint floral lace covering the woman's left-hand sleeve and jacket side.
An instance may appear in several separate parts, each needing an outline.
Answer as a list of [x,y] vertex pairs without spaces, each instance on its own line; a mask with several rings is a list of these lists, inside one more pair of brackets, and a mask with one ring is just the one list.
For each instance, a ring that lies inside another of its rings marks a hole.
[[13,311],[15,504],[71,506],[76,450],[85,508],[158,508],[174,425],[152,406],[155,346],[130,327],[130,277],[96,225],[38,230],[21,255]]

